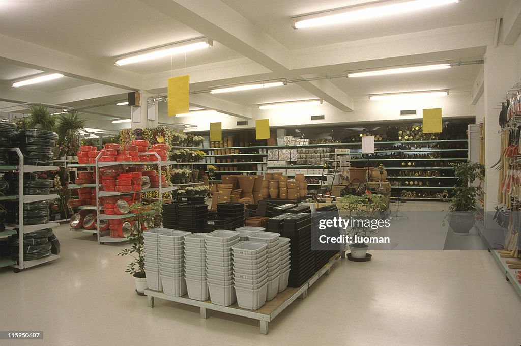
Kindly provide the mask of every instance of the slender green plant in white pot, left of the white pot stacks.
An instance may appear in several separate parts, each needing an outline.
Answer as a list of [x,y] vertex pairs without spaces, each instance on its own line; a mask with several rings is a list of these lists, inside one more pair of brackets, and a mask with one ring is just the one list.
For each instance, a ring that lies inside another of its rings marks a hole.
[[135,216],[132,218],[133,227],[127,236],[130,241],[130,248],[122,249],[118,256],[130,256],[131,262],[127,264],[125,273],[130,273],[134,278],[135,291],[139,295],[144,295],[146,285],[145,257],[144,257],[144,237],[143,232],[147,229],[157,228],[161,225],[161,212],[163,205],[161,202],[145,204],[143,202],[132,203],[130,209]]

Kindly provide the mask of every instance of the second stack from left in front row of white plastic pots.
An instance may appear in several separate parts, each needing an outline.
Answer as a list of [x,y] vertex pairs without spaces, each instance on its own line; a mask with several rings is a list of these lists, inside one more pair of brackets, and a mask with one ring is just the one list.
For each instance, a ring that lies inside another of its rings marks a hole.
[[159,274],[165,294],[187,294],[184,280],[184,236],[187,231],[170,231],[159,234]]

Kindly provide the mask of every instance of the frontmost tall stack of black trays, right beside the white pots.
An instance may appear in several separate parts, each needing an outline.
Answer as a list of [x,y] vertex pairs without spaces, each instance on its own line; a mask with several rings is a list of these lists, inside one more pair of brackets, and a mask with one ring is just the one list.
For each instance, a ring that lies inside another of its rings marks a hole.
[[289,287],[301,287],[315,274],[315,254],[311,250],[311,214],[292,214],[284,219],[282,236],[290,239]]

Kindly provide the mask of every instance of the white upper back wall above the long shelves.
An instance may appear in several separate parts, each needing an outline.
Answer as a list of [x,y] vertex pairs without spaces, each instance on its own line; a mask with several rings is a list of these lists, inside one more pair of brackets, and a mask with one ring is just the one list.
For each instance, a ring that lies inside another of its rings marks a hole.
[[[349,122],[396,121],[421,119],[422,109],[441,108],[443,117],[474,116],[474,109],[470,105],[470,93],[453,93],[449,96],[413,98],[411,100],[372,101],[368,98],[354,100],[354,112],[341,112],[329,104],[307,106],[291,109],[271,109],[259,111],[248,126],[240,128],[254,128],[255,119],[269,119],[271,127],[302,126],[302,125],[334,125]],[[415,109],[417,115],[401,116],[400,110]],[[312,115],[325,115],[325,120],[311,120]],[[192,131],[208,131],[210,122],[222,122],[222,129],[237,129],[236,117],[216,115],[207,118],[189,116],[178,118],[179,122],[197,125]]]

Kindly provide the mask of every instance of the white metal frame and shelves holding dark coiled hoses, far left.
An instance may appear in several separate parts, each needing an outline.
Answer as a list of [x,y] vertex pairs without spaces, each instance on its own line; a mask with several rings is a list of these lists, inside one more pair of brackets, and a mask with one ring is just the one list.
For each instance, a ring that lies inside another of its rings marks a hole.
[[[38,260],[31,260],[31,261],[26,261],[23,258],[23,235],[24,234],[34,232],[34,231],[39,231],[39,230],[42,230],[45,228],[55,228],[55,227],[59,226],[58,223],[47,223],[47,224],[42,224],[42,225],[25,226],[23,224],[23,204],[30,203],[30,202],[45,201],[45,200],[54,200],[54,199],[58,198],[58,195],[57,194],[28,195],[28,196],[24,195],[23,194],[24,173],[55,170],[56,167],[54,167],[54,166],[26,166],[23,164],[23,154],[20,151],[20,149],[14,148],[14,149],[11,149],[11,151],[14,151],[17,153],[20,165],[19,166],[0,166],[0,171],[18,171],[19,172],[18,179],[19,179],[19,190],[20,191],[19,191],[19,195],[18,195],[18,224],[17,225],[6,224],[7,227],[18,228],[17,233],[18,233],[18,237],[19,237],[19,250],[18,250],[19,260],[18,260],[18,263],[16,263],[15,261],[11,261],[13,263],[8,264],[8,265],[12,266],[13,268],[15,268],[14,270],[17,273],[20,270],[30,268],[30,267],[33,267],[33,266],[36,266],[36,265],[39,265],[42,263],[54,261],[54,260],[57,260],[58,258],[60,258],[59,255],[54,255],[54,254],[43,257],[43,258],[39,258]],[[15,233],[16,233],[16,231],[15,231]],[[9,261],[6,261],[6,260],[1,260],[1,261],[4,264],[4,266],[6,266],[7,263],[9,263]],[[0,266],[2,266],[2,265],[0,265]]]

